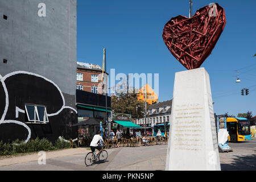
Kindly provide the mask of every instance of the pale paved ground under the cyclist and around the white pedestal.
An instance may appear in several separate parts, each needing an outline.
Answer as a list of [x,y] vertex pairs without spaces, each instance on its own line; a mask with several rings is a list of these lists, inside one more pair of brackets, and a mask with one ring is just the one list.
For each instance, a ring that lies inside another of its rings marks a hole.
[[[256,171],[256,139],[243,143],[228,143],[233,152],[220,153],[222,171]],[[164,170],[167,145],[110,148],[105,163],[86,167],[87,148],[47,152],[46,165],[38,164],[38,154],[0,159],[0,171],[155,171]]]

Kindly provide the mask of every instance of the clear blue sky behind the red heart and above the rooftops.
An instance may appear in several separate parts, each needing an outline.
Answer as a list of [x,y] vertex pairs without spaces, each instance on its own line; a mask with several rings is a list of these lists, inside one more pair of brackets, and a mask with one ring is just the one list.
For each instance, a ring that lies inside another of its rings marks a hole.
[[[193,14],[212,1],[194,0]],[[210,76],[214,113],[256,115],[256,1],[219,0],[226,26],[201,65]],[[164,25],[177,15],[188,16],[189,1],[77,0],[77,61],[102,65],[107,50],[107,71],[159,73],[159,101],[172,98],[175,72],[185,71],[163,42]],[[237,70],[240,84],[237,84]],[[117,81],[118,82],[118,81]],[[249,96],[241,89],[249,88]]]

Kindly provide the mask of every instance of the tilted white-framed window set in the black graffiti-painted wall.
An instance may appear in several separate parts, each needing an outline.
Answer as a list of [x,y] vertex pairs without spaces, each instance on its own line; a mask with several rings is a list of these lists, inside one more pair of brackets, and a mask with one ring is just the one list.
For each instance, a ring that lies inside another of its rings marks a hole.
[[46,106],[25,105],[28,121],[30,122],[48,122]]

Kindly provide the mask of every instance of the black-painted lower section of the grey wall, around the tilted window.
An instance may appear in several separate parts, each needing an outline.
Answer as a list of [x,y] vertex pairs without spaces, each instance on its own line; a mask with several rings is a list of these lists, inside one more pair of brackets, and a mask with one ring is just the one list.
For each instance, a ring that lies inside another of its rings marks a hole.
[[[47,109],[47,114],[59,114],[48,116],[47,124],[26,124],[31,130],[31,138],[36,137],[47,138],[51,142],[55,142],[58,137],[65,139],[77,138],[77,127],[71,127],[77,123],[77,114],[74,110],[63,107],[63,97],[57,87],[42,77],[16,74],[8,77],[5,80],[9,96],[9,106],[5,116],[5,121],[28,122],[26,113],[19,112],[16,117],[16,107],[26,110],[25,104],[44,105]],[[6,94],[3,91],[3,85],[0,82],[0,119],[5,109]],[[66,100],[75,102],[75,96],[65,94]],[[26,140],[28,130],[16,123],[2,123],[0,125],[0,140],[4,142],[12,142],[16,139]]]

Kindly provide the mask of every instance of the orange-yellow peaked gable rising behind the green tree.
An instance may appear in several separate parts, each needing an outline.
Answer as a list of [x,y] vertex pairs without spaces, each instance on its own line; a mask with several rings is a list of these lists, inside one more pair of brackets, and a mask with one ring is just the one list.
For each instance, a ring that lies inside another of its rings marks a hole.
[[[147,96],[147,99],[145,98],[145,94]],[[155,94],[154,90],[147,84],[142,87],[141,90],[139,90],[139,94],[137,96],[138,100],[145,101],[148,104],[156,104],[158,102],[158,96]]]

